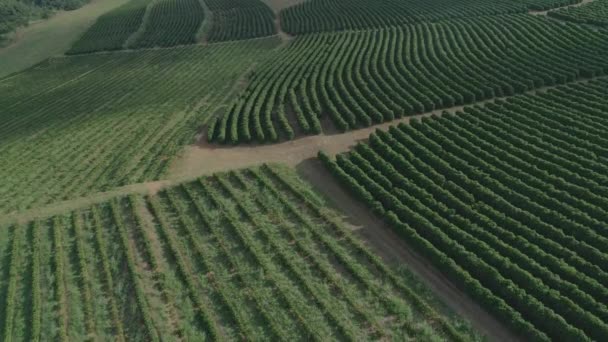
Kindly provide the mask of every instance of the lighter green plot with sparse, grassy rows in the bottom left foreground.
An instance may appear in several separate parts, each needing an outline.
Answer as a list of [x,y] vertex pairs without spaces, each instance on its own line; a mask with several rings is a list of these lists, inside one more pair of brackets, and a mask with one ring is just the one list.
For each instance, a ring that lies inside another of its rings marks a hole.
[[282,167],[2,229],[4,340],[478,339]]

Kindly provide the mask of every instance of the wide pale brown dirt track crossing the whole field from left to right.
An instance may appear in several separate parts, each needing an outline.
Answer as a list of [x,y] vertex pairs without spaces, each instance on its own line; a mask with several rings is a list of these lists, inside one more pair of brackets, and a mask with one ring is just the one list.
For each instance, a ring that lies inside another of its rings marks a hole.
[[[590,79],[582,79],[569,84],[585,83],[589,80]],[[539,88],[523,94],[543,92],[558,86]],[[467,106],[483,105],[505,98],[506,97],[488,99]],[[464,107],[465,106],[455,106],[443,108],[345,133],[334,132],[331,127],[326,129],[327,125],[325,125],[324,129],[329,132],[327,134],[302,136],[297,137],[294,140],[283,141],[277,144],[249,144],[238,146],[217,145],[207,143],[206,137],[204,135],[199,135],[199,143],[197,145],[185,147],[181,156],[176,158],[169,167],[165,179],[129,184],[109,191],[97,192],[90,196],[59,201],[50,205],[21,212],[8,213],[0,218],[0,225],[12,222],[28,222],[35,218],[47,217],[68,210],[74,210],[76,208],[107,201],[121,195],[131,193],[155,194],[160,189],[220,171],[245,168],[263,163],[283,163],[288,166],[297,167],[302,162],[315,158],[319,150],[323,150],[328,155],[334,156],[338,153],[349,151],[351,147],[360,141],[366,140],[372,132],[378,129],[385,130],[390,126],[399,123],[408,123],[412,119],[441,115],[443,112],[455,113],[461,111]]]

